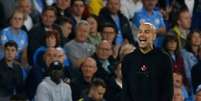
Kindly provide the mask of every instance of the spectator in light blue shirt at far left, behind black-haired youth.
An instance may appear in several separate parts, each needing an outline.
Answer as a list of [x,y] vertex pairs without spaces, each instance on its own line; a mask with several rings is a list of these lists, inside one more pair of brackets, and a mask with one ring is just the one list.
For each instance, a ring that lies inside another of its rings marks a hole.
[[17,49],[17,59],[23,64],[27,64],[28,36],[24,30],[21,30],[24,20],[24,13],[19,10],[15,10],[10,19],[10,26],[1,31],[0,43],[1,46],[3,46],[9,40],[14,40],[19,47]]

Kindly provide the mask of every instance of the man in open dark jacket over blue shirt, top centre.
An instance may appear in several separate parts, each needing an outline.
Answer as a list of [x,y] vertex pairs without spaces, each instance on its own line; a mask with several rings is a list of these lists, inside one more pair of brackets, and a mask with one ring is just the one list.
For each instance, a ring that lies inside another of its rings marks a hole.
[[134,44],[131,26],[128,19],[120,12],[120,0],[108,0],[106,7],[100,11],[100,28],[105,24],[113,24],[117,29],[115,44],[122,45],[127,39],[129,43]]

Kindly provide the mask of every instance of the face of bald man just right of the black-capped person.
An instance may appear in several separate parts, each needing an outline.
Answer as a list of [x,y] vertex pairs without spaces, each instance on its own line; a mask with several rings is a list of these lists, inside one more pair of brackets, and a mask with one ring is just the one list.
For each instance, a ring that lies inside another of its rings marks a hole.
[[90,58],[86,59],[81,67],[81,70],[84,77],[92,78],[97,70],[96,62]]

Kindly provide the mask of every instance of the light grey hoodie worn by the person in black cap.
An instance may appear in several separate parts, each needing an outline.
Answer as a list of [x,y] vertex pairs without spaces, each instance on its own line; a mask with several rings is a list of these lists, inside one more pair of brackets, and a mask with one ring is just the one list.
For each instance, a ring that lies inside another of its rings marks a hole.
[[35,101],[72,101],[71,88],[63,81],[56,84],[46,77],[38,85]]

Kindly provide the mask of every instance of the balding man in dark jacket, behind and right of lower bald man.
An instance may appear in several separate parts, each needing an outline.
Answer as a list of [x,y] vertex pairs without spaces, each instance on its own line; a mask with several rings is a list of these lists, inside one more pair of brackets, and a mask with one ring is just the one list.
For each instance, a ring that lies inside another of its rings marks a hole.
[[114,73],[115,60],[112,56],[112,46],[106,40],[103,40],[96,49],[96,53],[92,56],[97,63],[96,77],[102,78],[103,80],[110,81]]

